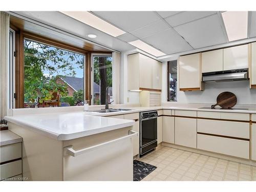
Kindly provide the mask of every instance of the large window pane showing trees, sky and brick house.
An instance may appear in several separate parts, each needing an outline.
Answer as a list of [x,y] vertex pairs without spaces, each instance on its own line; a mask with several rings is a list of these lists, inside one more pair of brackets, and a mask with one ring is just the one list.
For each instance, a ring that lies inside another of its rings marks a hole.
[[83,104],[84,55],[24,40],[24,107]]

